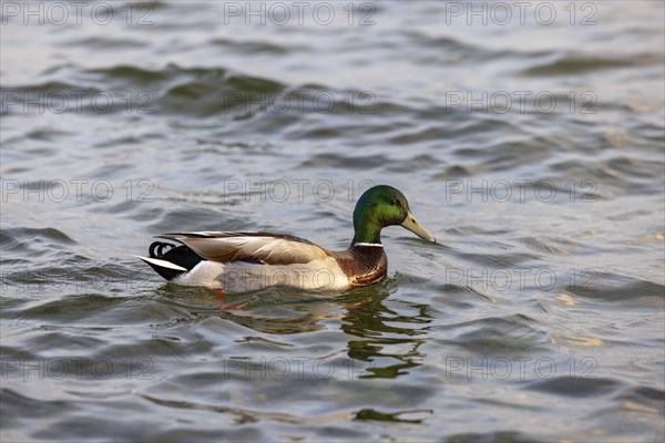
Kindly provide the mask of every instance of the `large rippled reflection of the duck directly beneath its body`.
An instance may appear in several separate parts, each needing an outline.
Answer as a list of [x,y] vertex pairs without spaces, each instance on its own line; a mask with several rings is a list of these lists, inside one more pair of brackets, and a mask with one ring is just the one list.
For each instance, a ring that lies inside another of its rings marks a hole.
[[[432,318],[427,305],[393,300],[390,281],[342,295],[309,293],[290,288],[221,295],[204,288],[166,285],[158,290],[168,303],[186,308],[195,319],[217,317],[259,336],[295,336],[313,331],[338,331],[337,348],[325,357],[346,353],[368,379],[395,379],[420,365]],[[196,320],[195,320],[196,321]],[[279,342],[266,337],[243,341]],[[294,343],[296,344],[296,339]],[[341,348],[344,347],[344,348]],[[294,350],[296,351],[296,350]],[[324,358],[325,358],[324,357]]]

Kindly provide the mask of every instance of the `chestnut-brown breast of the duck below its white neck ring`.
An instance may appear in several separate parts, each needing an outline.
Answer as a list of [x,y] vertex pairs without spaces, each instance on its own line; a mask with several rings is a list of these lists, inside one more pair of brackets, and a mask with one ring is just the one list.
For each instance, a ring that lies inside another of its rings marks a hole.
[[382,246],[355,245],[330,254],[349,278],[351,286],[365,286],[381,280],[388,272],[388,257]]

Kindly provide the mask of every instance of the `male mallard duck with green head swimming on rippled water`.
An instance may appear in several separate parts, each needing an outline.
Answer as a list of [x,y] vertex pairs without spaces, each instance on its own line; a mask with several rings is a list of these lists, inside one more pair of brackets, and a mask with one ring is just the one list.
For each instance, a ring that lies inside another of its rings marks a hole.
[[366,190],[356,204],[355,235],[347,250],[331,251],[303,238],[268,233],[168,233],[157,237],[182,245],[155,241],[150,257],[139,258],[167,280],[228,292],[273,285],[341,290],[386,277],[381,229],[391,225],[436,243],[411,215],[403,194],[381,185]]

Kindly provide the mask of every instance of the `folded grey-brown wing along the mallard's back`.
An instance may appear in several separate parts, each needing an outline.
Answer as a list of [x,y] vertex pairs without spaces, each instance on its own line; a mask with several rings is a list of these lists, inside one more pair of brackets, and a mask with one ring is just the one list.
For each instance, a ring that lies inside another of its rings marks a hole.
[[328,251],[299,237],[250,231],[167,233],[160,238],[180,241],[206,260],[258,260],[266,265],[307,264]]

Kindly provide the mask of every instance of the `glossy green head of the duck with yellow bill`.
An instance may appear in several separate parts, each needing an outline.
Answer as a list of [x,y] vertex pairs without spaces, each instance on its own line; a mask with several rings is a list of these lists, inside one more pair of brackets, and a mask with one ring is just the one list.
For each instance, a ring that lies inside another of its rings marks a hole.
[[379,185],[367,189],[356,204],[356,234],[351,245],[380,244],[381,229],[391,225],[401,225],[420,238],[436,243],[434,237],[411,215],[407,197],[392,186]]

